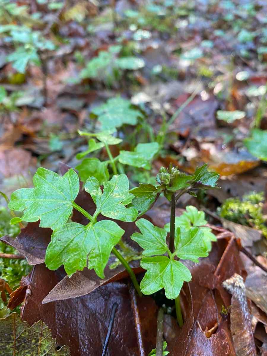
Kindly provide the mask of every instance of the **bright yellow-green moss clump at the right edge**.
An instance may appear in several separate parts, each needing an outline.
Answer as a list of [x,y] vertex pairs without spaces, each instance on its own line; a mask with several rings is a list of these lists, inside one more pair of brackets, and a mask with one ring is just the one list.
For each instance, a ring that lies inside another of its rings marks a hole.
[[263,192],[252,192],[245,194],[242,199],[226,199],[218,212],[222,218],[261,230],[267,237],[267,220],[262,213],[263,201]]

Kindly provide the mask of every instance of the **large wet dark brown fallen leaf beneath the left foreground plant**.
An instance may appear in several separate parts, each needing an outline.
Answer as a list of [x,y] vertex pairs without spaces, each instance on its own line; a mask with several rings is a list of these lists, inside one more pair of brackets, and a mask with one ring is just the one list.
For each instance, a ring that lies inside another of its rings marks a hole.
[[[112,305],[117,303],[108,354],[138,355],[128,285],[125,282],[111,282],[83,297],[42,304],[43,298],[63,275],[62,268],[50,271],[44,264],[33,268],[31,284],[28,286],[30,293],[26,295],[22,319],[30,325],[39,319],[43,320],[59,345],[69,345],[72,355],[95,356],[101,354]],[[138,299],[137,303],[147,355],[156,344],[157,307],[150,297]]]

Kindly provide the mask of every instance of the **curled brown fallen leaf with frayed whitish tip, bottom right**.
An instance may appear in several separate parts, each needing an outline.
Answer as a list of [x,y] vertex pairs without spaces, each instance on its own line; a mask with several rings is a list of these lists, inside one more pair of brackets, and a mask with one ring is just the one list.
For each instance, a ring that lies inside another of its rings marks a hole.
[[230,321],[236,355],[256,356],[257,352],[247,305],[244,279],[235,273],[231,278],[223,282],[223,287],[232,295]]

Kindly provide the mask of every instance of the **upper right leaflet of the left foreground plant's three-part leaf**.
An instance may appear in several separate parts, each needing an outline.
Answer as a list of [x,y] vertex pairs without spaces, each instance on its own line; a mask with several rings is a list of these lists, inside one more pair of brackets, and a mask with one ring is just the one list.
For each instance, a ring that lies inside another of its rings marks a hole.
[[84,189],[91,195],[96,205],[95,214],[121,221],[135,221],[138,211],[134,208],[126,208],[131,203],[134,195],[129,193],[129,180],[125,174],[115,175],[104,182],[103,193],[99,181],[95,177],[87,179]]

